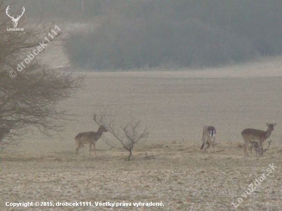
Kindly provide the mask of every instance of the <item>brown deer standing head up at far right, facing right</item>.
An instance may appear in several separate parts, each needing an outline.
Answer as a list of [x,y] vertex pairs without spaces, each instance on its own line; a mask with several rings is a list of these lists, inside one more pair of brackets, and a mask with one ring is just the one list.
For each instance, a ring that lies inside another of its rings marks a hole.
[[[241,136],[244,139],[244,156],[249,156],[248,151],[247,151],[247,146],[251,144],[252,141],[258,142],[258,148],[259,148],[259,155],[263,155],[264,149],[263,149],[263,143],[264,141],[270,137],[272,131],[274,130],[274,124],[267,123],[268,126],[267,131],[261,131],[261,130],[256,130],[256,129],[245,129],[244,131],[241,132]],[[252,151],[251,151],[252,153]],[[253,154],[253,153],[252,153]]]

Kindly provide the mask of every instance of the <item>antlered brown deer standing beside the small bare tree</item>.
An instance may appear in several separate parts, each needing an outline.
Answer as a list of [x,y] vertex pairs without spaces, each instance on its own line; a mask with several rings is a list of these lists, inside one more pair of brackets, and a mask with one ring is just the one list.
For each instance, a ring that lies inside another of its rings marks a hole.
[[[93,116],[93,120],[96,122],[96,115]],[[94,148],[94,153],[96,155],[95,143],[103,135],[103,133],[108,132],[108,130],[105,128],[105,126],[100,125],[100,124],[98,124],[98,125],[99,125],[99,129],[98,129],[97,132],[90,131],[90,132],[78,133],[77,136],[75,136],[74,139],[76,141],[76,151],[75,151],[76,156],[78,155],[79,149],[81,147],[83,147],[85,143],[89,143],[89,147],[90,147],[89,156],[91,155],[92,144],[93,144],[93,148]]]

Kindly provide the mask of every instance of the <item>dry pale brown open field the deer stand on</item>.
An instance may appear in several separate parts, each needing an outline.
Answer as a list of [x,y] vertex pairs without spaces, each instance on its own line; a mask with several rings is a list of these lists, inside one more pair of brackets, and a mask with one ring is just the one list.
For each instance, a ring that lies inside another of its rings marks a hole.
[[[198,71],[85,73],[85,89],[61,104],[77,120],[66,122],[61,138],[30,135],[14,155],[0,155],[0,209],[282,210],[281,60]],[[109,103],[120,116],[132,111],[148,126],[147,142],[135,148],[132,161],[102,139],[97,156],[89,157],[86,145],[76,157],[75,135],[96,131],[91,115]],[[269,151],[244,158],[241,131],[267,130],[267,122],[277,123]],[[206,124],[217,130],[217,153],[200,152]],[[256,189],[249,195],[251,183]],[[51,201],[54,206],[34,205]],[[80,201],[94,206],[56,206]],[[163,206],[133,205],[138,202]]]

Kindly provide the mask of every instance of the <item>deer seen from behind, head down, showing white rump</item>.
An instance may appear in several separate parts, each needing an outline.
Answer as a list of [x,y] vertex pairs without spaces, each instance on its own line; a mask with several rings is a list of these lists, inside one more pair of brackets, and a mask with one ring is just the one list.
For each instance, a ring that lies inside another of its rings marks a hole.
[[[202,150],[202,153],[204,151],[206,151],[206,149],[208,147],[210,147],[210,150],[212,149],[212,146],[215,145],[215,133],[216,133],[216,130],[214,128],[214,126],[210,126],[210,125],[205,125],[204,128],[203,128],[203,144],[202,146],[200,147],[200,149]],[[212,139],[213,139],[213,142],[212,142]],[[207,145],[205,147],[205,145]],[[210,152],[209,150],[209,152]],[[215,145],[215,152],[216,152],[216,145]],[[212,153],[213,153],[213,149],[212,149]]]

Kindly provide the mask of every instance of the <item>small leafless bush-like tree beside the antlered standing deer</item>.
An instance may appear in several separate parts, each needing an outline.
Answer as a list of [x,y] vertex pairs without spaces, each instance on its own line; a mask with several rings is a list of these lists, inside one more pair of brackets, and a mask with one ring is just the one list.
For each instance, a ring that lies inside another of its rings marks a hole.
[[116,118],[116,112],[112,115],[112,112],[107,112],[107,109],[104,109],[99,115],[94,114],[94,121],[100,126],[105,126],[121,146],[118,146],[116,142],[107,137],[103,137],[103,140],[115,149],[127,150],[129,152],[127,160],[129,161],[133,147],[144,143],[148,138],[149,132],[147,126],[142,129],[141,120],[135,120],[132,117],[132,112],[129,121],[126,123],[122,123],[122,119],[117,120]]

